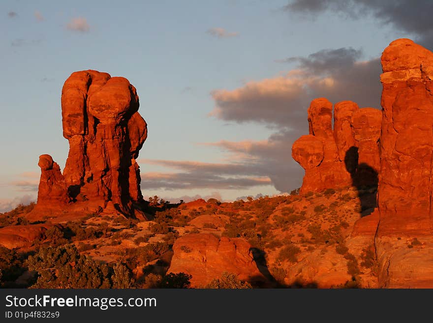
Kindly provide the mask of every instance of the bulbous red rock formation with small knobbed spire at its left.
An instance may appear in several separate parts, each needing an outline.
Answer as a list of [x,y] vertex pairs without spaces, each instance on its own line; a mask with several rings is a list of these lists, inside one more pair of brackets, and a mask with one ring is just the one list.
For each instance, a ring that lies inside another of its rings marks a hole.
[[51,205],[88,211],[110,208],[141,216],[143,197],[138,152],[147,124],[138,113],[136,89],[123,77],[87,70],[74,72],[62,88],[63,137],[69,154],[63,174],[42,155],[35,211]]

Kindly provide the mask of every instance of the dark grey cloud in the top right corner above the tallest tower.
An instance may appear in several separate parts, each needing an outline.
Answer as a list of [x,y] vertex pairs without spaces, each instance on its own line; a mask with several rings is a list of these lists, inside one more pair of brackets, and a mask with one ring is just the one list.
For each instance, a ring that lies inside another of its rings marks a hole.
[[362,19],[370,14],[381,24],[417,35],[417,42],[433,48],[431,0],[292,0],[284,10],[310,17],[329,11],[350,19]]

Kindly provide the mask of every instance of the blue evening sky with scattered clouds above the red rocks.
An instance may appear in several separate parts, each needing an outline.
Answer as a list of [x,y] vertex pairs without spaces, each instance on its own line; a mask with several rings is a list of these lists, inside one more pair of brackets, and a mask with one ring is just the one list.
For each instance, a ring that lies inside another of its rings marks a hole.
[[300,187],[291,146],[316,97],[380,109],[380,55],[433,49],[432,1],[0,2],[0,212],[36,200],[38,157],[63,169],[61,90],[74,71],[137,88],[145,197],[233,201]]

